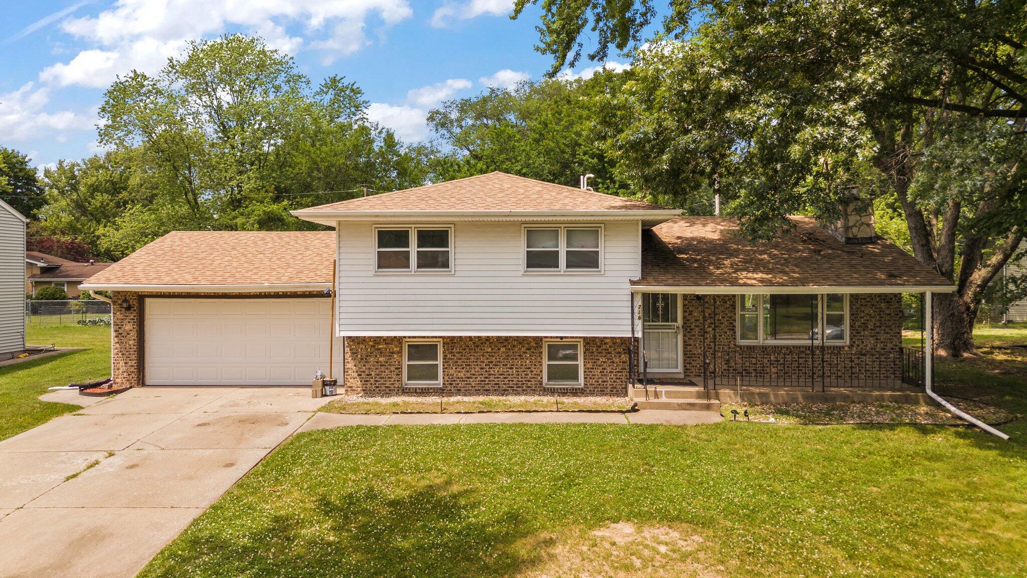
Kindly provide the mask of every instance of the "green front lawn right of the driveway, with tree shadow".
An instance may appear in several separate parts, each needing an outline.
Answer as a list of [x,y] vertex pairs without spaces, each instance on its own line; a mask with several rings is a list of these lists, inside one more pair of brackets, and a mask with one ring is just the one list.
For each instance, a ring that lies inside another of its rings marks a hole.
[[302,434],[141,576],[1024,576],[1027,351],[983,354],[940,360],[938,386],[1020,413],[1009,442],[731,422]]

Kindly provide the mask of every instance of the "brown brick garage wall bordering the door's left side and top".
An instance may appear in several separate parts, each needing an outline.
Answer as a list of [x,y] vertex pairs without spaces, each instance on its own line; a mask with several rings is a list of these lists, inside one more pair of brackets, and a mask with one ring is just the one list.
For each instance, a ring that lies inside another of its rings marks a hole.
[[[140,344],[140,302],[147,297],[196,297],[203,295],[206,297],[273,297],[273,296],[303,296],[318,295],[324,293],[314,292],[281,292],[281,293],[137,293],[132,291],[114,291],[111,293],[111,377],[114,380],[114,387],[135,388],[143,385],[143,371],[141,365],[141,344]],[[121,300],[128,299],[130,311],[124,311]],[[145,362],[145,360],[142,360]]]

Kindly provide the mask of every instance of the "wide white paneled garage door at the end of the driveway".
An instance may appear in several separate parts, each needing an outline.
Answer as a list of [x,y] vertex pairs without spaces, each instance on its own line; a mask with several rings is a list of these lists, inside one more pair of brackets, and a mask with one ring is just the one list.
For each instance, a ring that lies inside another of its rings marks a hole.
[[314,371],[328,373],[331,304],[330,298],[147,298],[144,383],[309,385]]

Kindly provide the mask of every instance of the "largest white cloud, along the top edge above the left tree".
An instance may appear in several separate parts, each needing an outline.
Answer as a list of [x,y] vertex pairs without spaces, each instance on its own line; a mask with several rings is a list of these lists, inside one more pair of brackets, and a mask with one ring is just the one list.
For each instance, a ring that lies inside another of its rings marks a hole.
[[294,25],[303,27],[309,47],[331,63],[369,43],[369,19],[391,26],[412,14],[407,0],[117,0],[94,16],[62,22],[64,32],[88,47],[44,69],[40,80],[106,86],[131,69],[155,72],[188,40],[228,31],[265,36],[271,47],[295,53],[304,40],[287,32]]

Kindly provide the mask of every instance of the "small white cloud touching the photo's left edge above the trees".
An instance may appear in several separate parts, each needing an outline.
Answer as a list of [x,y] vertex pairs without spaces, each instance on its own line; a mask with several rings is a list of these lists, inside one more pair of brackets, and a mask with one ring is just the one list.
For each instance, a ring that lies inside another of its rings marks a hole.
[[26,82],[16,91],[0,95],[0,135],[9,141],[25,141],[48,137],[62,142],[68,133],[91,131],[97,122],[94,114],[70,110],[45,112],[49,89]]

